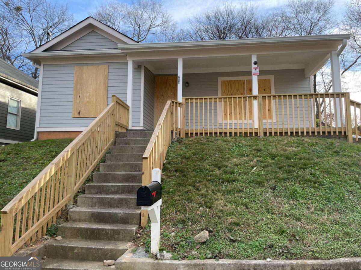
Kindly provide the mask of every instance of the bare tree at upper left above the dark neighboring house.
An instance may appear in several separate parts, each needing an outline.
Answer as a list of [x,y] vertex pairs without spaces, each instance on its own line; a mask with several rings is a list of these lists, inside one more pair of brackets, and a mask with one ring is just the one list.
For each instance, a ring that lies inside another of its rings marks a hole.
[[46,0],[1,0],[0,13],[4,23],[0,36],[9,44],[1,57],[37,78],[38,68],[20,54],[47,42],[48,32],[56,36],[65,31],[73,24],[73,15],[67,6]]

